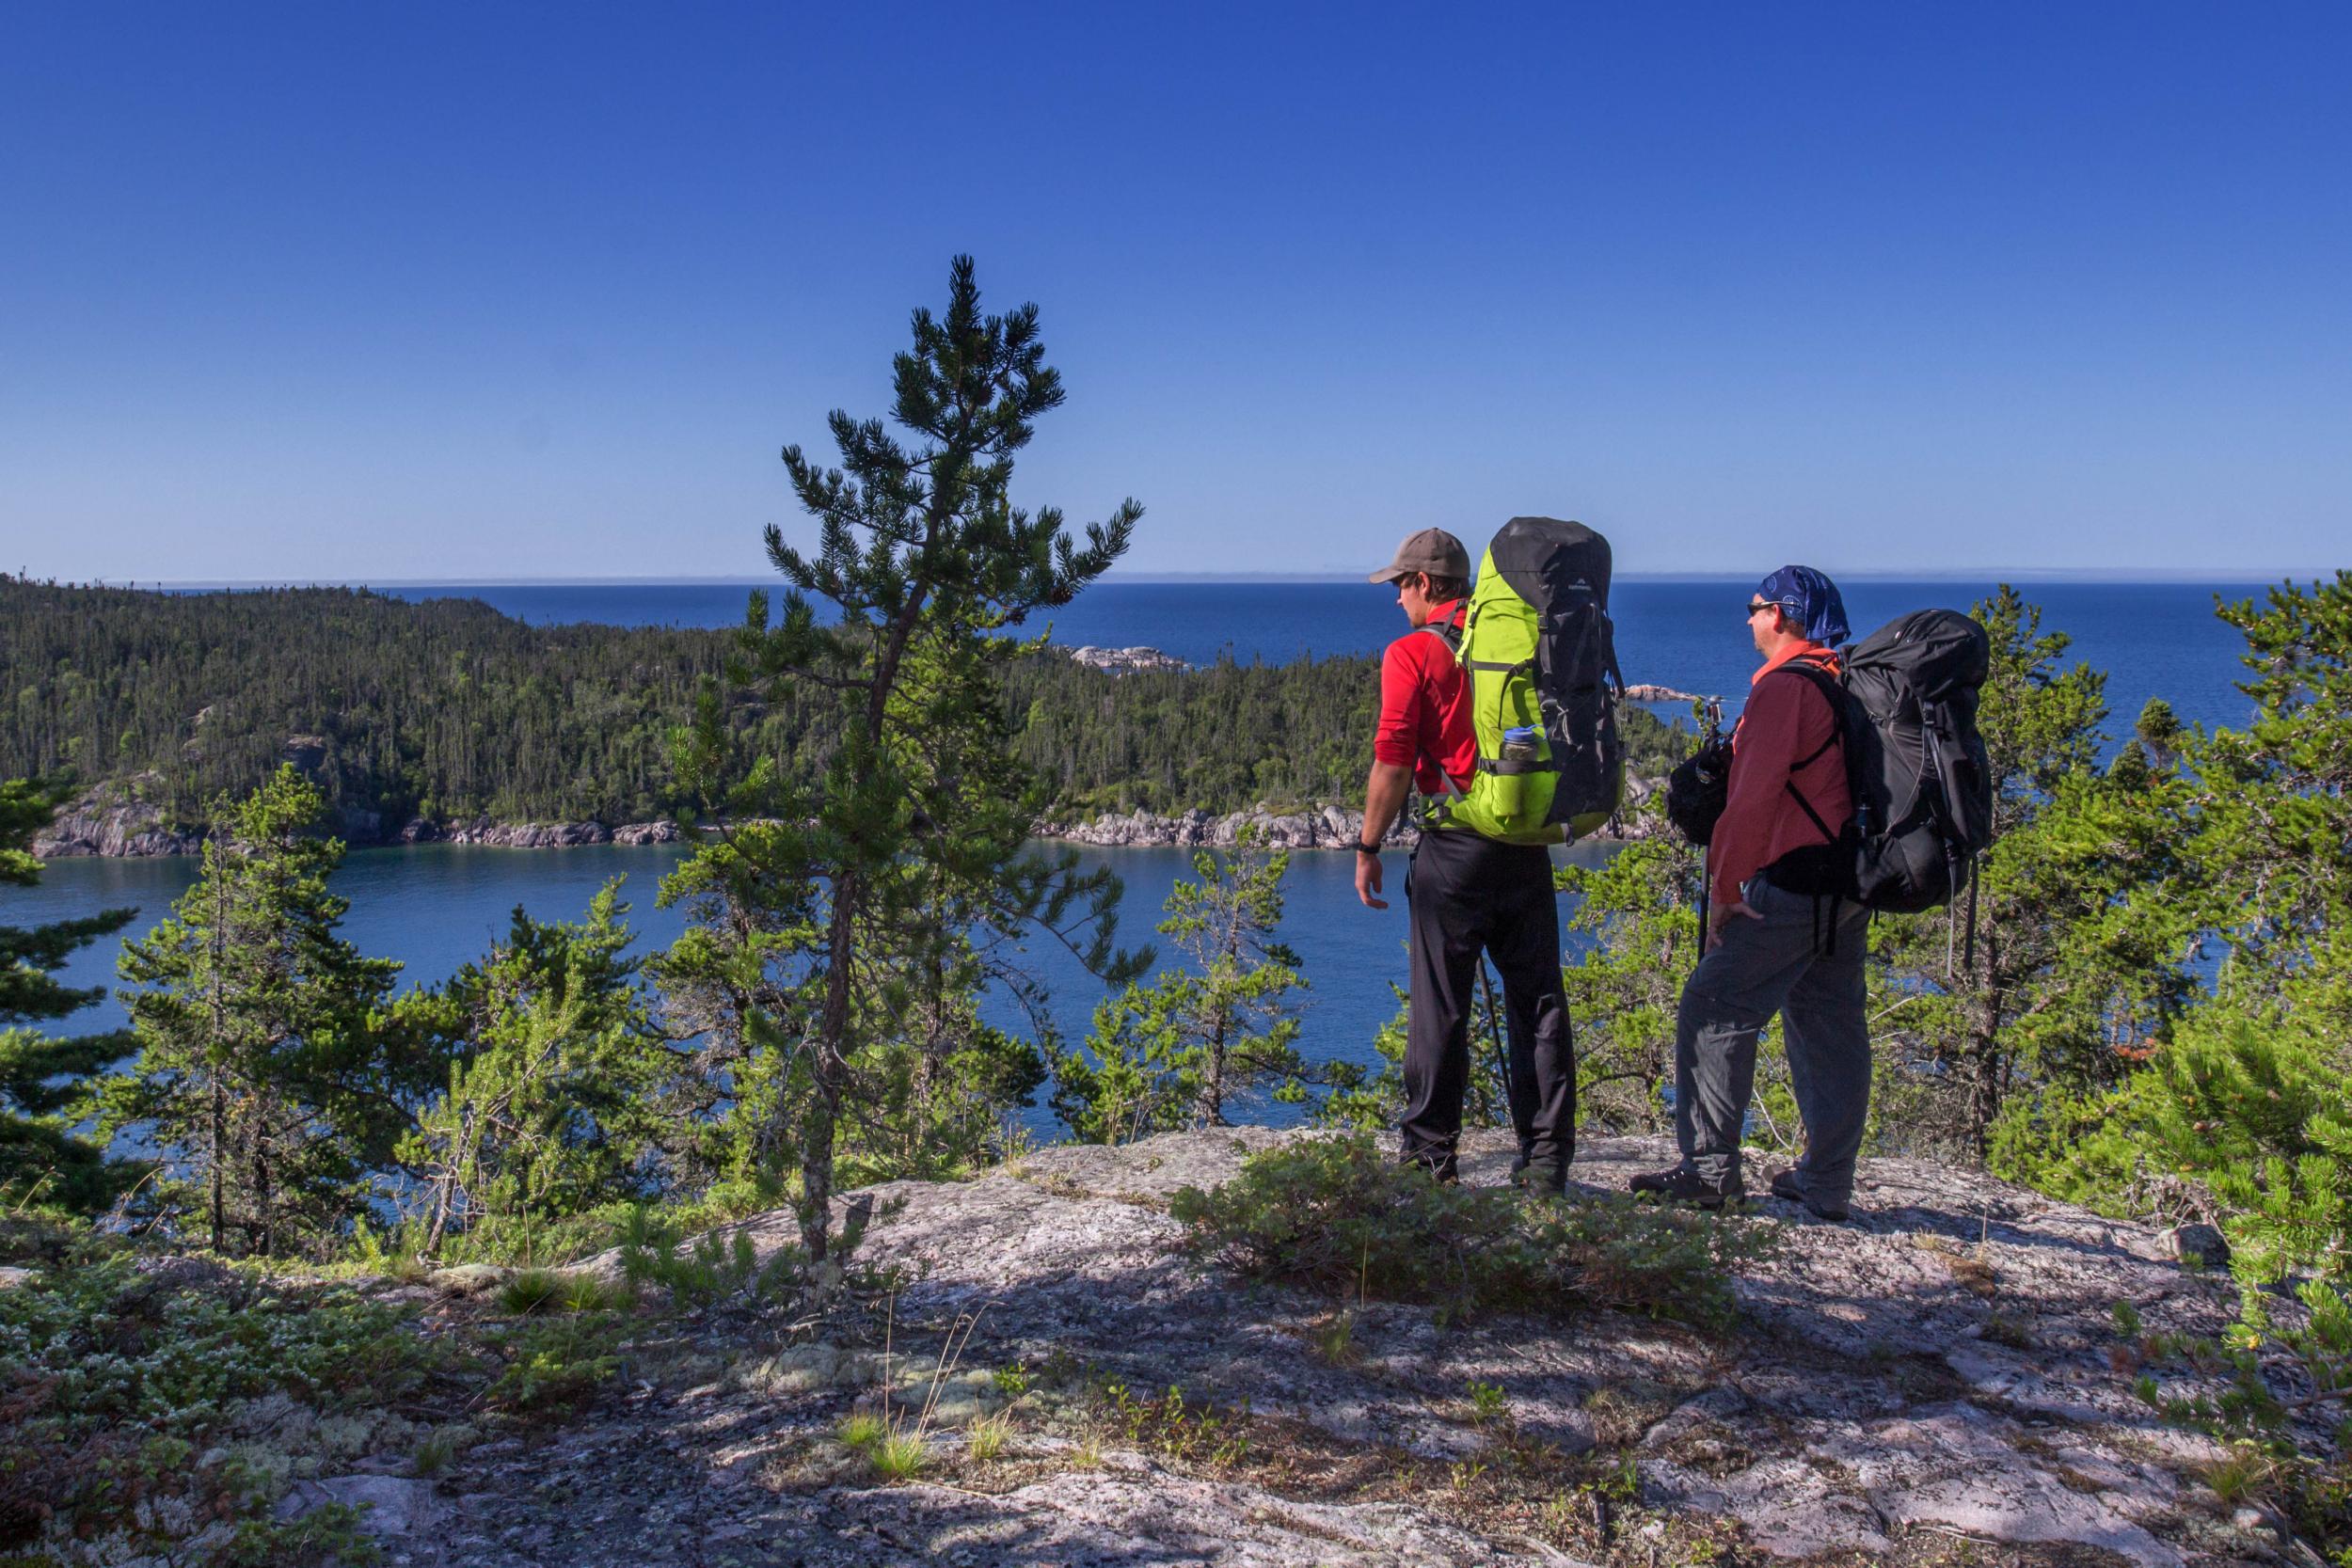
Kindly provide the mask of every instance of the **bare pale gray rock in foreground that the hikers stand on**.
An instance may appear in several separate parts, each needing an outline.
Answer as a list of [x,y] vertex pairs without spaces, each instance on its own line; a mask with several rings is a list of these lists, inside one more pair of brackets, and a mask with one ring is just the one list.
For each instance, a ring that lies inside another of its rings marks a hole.
[[[1044,1150],[974,1182],[851,1194],[842,1208],[873,1215],[856,1262],[903,1272],[894,1338],[877,1324],[837,1347],[837,1326],[807,1319],[781,1347],[729,1349],[706,1331],[710,1371],[647,1373],[581,1427],[473,1448],[395,1561],[2279,1561],[2201,1483],[2216,1450],[2133,1396],[2114,1302],[2161,1331],[2230,1316],[2227,1281],[2185,1269],[2157,1232],[1865,1161],[1853,1225],[1757,1204],[1780,1246],[1745,1265],[1724,1335],[1599,1312],[1446,1326],[1362,1302],[1334,1338],[1331,1302],[1190,1260],[1167,1213],[1178,1187],[1218,1185],[1282,1138]],[[1621,1190],[1665,1157],[1663,1140],[1592,1138],[1576,1175]],[[1472,1135],[1463,1180],[1501,1182],[1505,1164],[1501,1135]],[[731,1234],[769,1255],[795,1220]],[[934,1406],[931,1467],[880,1483],[842,1458],[840,1422],[894,1375],[884,1345],[910,1368],[901,1408],[920,1403],[957,1321],[974,1328]],[[1056,1425],[1040,1415],[1056,1378],[1096,1389],[1073,1401],[1174,1387],[1223,1425],[1197,1446],[1136,1420]],[[974,1455],[983,1408],[1009,1413],[1000,1458]]]

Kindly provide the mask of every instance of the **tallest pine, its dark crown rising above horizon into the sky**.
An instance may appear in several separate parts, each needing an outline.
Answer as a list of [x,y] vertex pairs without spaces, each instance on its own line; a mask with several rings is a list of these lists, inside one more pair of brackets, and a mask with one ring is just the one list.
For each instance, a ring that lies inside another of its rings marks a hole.
[[[913,339],[891,364],[903,435],[835,411],[840,468],[783,449],[816,548],[769,527],[788,583],[781,618],[769,630],[755,595],[729,670],[764,701],[826,693],[830,752],[811,769],[767,759],[724,790],[736,745],[717,701],[682,745],[687,778],[731,818],[779,823],[729,846],[757,856],[736,886],[760,905],[818,910],[797,973],[781,980],[795,994],[807,983],[811,1009],[748,1020],[786,1058],[769,1077],[767,1135],[797,1161],[811,1258],[826,1251],[837,1147],[856,1133],[844,1114],[880,1103],[903,1053],[922,1048],[906,1016],[910,976],[950,966],[971,929],[1033,924],[1089,966],[1115,966],[1117,882],[1025,849],[1051,792],[1011,755],[1004,675],[1023,644],[1002,632],[1108,571],[1141,508],[1117,505],[1080,545],[1058,510],[1011,503],[1014,456],[1063,388],[1037,308],[983,315],[969,256],[950,268],[946,313],[915,310]],[[835,623],[818,623],[818,602]]]

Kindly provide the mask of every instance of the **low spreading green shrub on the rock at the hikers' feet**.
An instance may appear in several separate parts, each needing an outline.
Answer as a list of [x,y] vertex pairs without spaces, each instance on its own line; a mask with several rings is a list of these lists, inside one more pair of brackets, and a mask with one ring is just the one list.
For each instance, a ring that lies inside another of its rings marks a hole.
[[1357,1300],[1430,1302],[1442,1316],[1613,1307],[1691,1324],[1731,1319],[1729,1267],[1771,1232],[1630,1199],[1531,1199],[1439,1185],[1369,1135],[1268,1150],[1169,1213],[1195,1253],[1251,1279]]

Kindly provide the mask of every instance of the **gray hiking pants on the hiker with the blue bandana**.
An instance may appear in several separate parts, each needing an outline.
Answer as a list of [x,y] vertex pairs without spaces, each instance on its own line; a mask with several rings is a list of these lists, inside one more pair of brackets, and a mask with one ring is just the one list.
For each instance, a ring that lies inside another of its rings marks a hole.
[[1870,1114],[1863,954],[1870,910],[1748,882],[1748,907],[1682,987],[1675,1018],[1675,1138],[1708,1185],[1740,1178],[1740,1128],[1757,1084],[1757,1032],[1780,1013],[1788,1077],[1804,1119],[1806,1197],[1844,1206]]

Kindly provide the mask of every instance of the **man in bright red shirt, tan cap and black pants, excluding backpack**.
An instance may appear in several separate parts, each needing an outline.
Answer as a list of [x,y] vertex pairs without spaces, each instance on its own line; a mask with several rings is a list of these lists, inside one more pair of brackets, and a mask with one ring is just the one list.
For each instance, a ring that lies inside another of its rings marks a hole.
[[[1435,799],[1477,776],[1470,682],[1456,658],[1470,552],[1444,529],[1421,529],[1371,574],[1395,583],[1414,630],[1381,656],[1381,726],[1364,783],[1364,837],[1355,891],[1381,898],[1381,839],[1418,788]],[[1508,1093],[1519,1164],[1531,1185],[1559,1192],[1576,1152],[1576,1060],[1569,997],[1559,983],[1559,898],[1541,844],[1496,844],[1465,827],[1423,830],[1404,875],[1411,933],[1411,1004],[1404,1041],[1404,1159],[1454,1180],[1454,1145],[1470,1086],[1470,999],[1479,954],[1503,976],[1510,1027]]]

